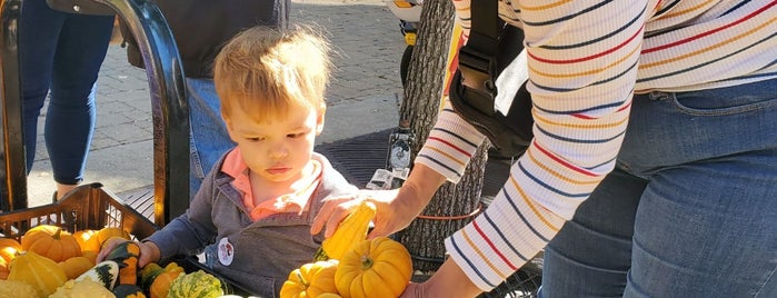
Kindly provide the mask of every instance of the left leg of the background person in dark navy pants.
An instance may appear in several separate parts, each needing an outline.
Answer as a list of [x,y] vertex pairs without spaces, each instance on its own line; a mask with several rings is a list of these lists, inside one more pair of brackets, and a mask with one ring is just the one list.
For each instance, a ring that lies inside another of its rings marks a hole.
[[19,68],[27,172],[36,158],[38,117],[49,93],[51,67],[64,22],[64,14],[49,9],[46,1],[24,1],[19,18]]

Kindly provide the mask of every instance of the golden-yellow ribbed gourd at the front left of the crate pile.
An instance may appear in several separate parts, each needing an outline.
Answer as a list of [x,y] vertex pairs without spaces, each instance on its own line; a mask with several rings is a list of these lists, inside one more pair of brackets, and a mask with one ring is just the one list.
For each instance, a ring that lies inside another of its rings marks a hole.
[[38,290],[38,297],[49,297],[68,280],[57,262],[34,251],[26,251],[13,258],[10,269],[8,280],[27,282]]

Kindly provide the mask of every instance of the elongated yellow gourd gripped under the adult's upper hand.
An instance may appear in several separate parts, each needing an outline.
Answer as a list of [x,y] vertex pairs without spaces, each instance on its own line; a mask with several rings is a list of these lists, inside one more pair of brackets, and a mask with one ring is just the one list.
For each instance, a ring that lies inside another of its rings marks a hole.
[[335,234],[321,242],[321,248],[313,255],[313,260],[340,259],[353,246],[365,240],[375,212],[375,203],[362,201],[356,211],[340,222]]

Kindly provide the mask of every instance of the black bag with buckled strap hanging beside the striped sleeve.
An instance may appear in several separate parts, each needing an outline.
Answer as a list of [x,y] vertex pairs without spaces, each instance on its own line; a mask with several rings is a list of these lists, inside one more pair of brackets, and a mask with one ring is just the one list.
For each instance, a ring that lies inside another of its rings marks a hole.
[[497,17],[497,1],[471,3],[471,29],[459,49],[458,69],[449,90],[454,110],[491,142],[491,158],[522,155],[534,138],[531,96],[526,81],[516,92],[507,115],[495,108],[497,76],[522,50],[524,32]]

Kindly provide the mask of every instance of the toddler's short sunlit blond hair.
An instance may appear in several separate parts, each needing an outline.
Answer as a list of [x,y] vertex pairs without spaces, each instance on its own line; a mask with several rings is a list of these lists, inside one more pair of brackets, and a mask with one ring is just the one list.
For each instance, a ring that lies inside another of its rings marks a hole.
[[258,122],[285,117],[289,107],[323,111],[329,42],[307,27],[255,27],[235,36],[216,57],[213,82],[221,117],[242,109]]

